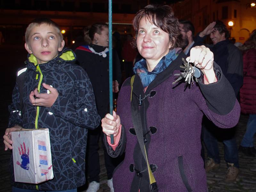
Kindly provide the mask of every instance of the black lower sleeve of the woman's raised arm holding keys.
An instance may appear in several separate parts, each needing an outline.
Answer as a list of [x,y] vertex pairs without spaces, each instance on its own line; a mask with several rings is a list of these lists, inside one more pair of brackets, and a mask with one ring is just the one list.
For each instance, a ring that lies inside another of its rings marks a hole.
[[204,84],[204,78],[198,81],[199,87],[204,95],[208,108],[219,115],[227,115],[236,103],[235,92],[228,79],[223,75],[221,68],[214,62],[214,71],[217,82]]

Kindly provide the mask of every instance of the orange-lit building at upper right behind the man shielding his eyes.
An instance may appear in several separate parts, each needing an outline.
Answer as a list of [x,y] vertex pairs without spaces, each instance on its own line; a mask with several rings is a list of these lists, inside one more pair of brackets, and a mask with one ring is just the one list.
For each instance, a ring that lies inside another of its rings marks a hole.
[[184,0],[171,5],[176,17],[191,20],[196,33],[202,31],[210,22],[221,20],[229,27],[231,38],[244,43],[256,29],[256,8],[251,7],[255,0]]

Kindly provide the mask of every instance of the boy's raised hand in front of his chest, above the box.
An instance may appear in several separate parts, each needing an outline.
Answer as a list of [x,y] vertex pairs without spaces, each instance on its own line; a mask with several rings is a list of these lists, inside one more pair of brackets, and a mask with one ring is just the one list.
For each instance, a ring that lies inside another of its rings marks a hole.
[[[56,101],[59,93],[57,89],[51,87],[48,84],[43,83],[43,87],[48,89],[50,93],[39,93],[37,88],[31,91],[29,94],[29,100],[34,106],[52,107],[53,103]],[[37,98],[35,99],[36,96]]]

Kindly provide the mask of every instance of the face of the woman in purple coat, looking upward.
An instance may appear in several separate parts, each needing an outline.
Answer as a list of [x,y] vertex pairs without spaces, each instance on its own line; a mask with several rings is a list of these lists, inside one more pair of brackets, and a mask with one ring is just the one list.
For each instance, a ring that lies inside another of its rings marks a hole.
[[139,23],[137,47],[140,55],[147,61],[158,63],[171,47],[169,34],[143,17]]

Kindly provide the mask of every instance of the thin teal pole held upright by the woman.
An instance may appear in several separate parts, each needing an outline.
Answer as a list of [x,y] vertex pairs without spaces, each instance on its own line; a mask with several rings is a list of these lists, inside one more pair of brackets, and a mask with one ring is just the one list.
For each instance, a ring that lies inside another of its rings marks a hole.
[[[109,48],[109,113],[113,115],[113,92],[112,92],[112,0],[108,0],[108,48]],[[114,135],[110,135],[111,144],[114,144]]]

